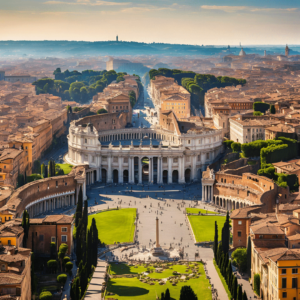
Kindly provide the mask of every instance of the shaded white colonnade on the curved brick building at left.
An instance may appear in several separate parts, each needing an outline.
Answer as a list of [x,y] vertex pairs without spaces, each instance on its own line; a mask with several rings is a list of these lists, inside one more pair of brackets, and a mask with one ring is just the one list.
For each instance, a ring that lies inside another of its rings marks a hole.
[[26,206],[31,218],[54,209],[74,206],[76,204],[75,192],[62,193],[35,200]]

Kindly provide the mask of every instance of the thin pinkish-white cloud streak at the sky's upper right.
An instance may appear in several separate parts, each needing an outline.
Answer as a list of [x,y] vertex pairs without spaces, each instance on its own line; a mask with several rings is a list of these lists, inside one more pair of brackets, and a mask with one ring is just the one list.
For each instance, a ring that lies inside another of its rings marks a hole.
[[221,10],[228,13],[246,11],[246,12],[293,12],[298,10],[297,8],[264,8],[253,6],[219,6],[219,5],[202,5],[202,9],[207,10]]

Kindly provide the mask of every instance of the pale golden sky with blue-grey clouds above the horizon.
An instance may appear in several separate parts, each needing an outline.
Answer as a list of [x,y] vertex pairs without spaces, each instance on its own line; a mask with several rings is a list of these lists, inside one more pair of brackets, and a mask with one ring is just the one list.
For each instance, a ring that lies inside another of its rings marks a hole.
[[0,40],[300,44],[300,0],[0,0]]

